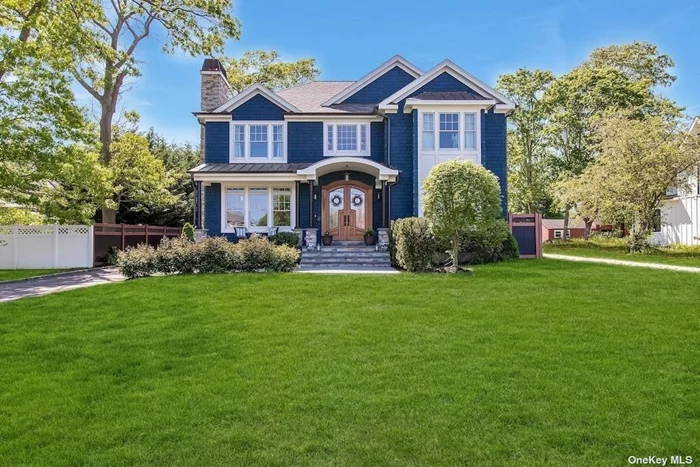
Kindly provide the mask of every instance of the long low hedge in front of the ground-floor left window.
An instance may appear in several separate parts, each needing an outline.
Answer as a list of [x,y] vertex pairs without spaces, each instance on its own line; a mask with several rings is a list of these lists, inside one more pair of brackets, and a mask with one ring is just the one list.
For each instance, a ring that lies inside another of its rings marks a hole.
[[197,243],[164,238],[158,248],[140,244],[120,251],[117,266],[128,278],[153,274],[216,274],[241,271],[289,272],[299,261],[299,252],[274,245],[263,237],[231,243],[223,237],[208,237]]

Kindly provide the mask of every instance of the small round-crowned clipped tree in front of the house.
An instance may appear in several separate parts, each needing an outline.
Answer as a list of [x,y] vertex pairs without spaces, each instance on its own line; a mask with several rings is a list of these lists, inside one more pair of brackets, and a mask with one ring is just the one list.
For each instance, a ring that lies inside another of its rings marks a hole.
[[459,266],[460,236],[494,223],[501,213],[498,178],[480,165],[448,161],[434,166],[423,182],[425,217],[452,243],[452,266]]

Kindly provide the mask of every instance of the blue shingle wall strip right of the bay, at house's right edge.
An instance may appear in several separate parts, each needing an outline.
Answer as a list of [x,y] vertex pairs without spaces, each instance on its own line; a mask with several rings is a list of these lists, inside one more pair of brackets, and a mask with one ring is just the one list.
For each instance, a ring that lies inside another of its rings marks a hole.
[[501,209],[508,212],[508,156],[505,114],[481,112],[481,163],[501,184]]

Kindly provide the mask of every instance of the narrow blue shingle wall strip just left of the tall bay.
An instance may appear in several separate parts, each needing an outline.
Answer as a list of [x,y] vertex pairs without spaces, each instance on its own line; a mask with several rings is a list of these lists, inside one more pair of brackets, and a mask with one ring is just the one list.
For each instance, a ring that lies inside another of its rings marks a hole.
[[389,114],[390,161],[399,170],[399,181],[392,185],[391,219],[413,215],[413,117],[411,114]]

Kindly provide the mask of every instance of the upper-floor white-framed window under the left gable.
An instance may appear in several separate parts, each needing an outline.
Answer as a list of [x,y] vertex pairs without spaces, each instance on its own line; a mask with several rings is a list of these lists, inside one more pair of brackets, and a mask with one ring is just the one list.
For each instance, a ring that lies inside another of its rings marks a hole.
[[287,126],[282,122],[231,122],[231,162],[287,159]]

